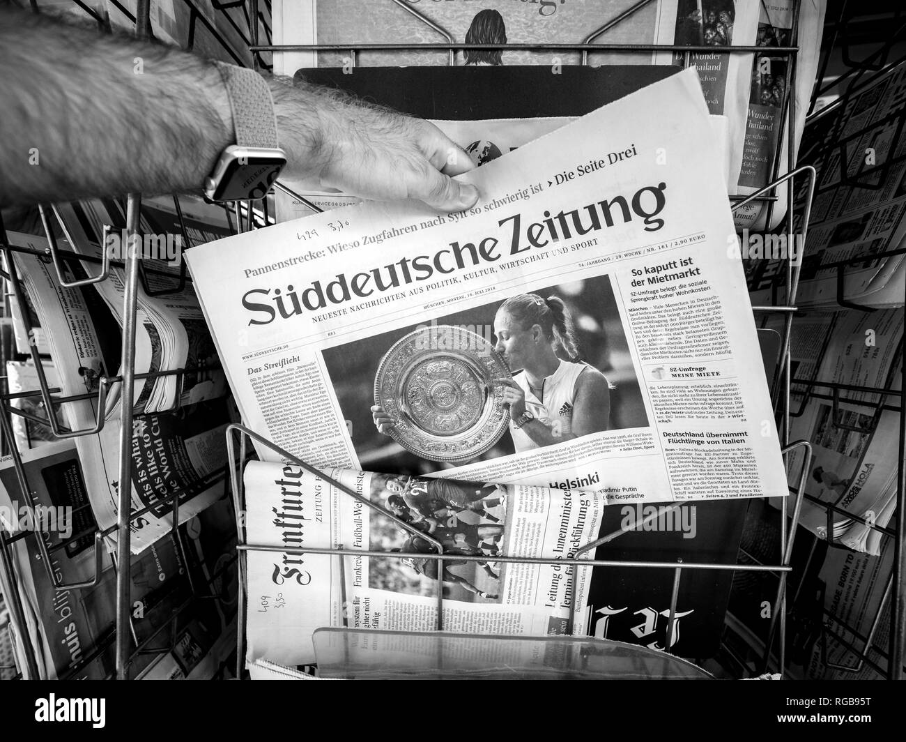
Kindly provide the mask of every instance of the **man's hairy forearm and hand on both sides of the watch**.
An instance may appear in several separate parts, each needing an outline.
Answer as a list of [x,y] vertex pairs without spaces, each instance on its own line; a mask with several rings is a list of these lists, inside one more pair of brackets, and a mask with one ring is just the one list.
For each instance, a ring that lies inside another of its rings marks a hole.
[[[35,50],[53,50],[36,54]],[[195,54],[0,5],[0,207],[198,192],[235,144],[226,86]],[[474,205],[467,154],[428,122],[270,80],[286,174],[369,199]]]

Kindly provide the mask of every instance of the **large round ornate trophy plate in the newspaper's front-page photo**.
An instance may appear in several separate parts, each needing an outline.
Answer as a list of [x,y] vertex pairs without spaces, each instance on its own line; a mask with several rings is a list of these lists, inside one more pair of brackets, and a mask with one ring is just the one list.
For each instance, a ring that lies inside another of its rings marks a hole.
[[486,338],[432,325],[402,337],[381,358],[374,402],[393,419],[390,436],[431,461],[465,462],[484,454],[509,425],[502,385],[511,379]]

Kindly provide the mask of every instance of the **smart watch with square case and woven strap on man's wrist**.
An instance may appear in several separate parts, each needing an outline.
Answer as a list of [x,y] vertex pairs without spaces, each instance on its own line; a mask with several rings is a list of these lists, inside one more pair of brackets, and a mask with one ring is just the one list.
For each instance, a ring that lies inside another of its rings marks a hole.
[[271,90],[255,70],[216,64],[233,112],[236,144],[220,153],[205,180],[205,195],[213,201],[263,199],[286,164],[277,143]]

